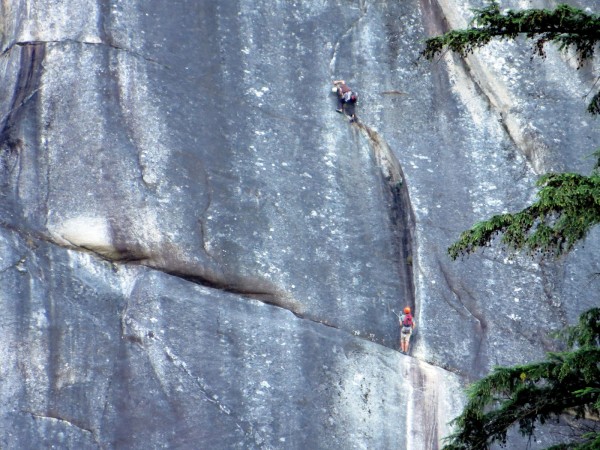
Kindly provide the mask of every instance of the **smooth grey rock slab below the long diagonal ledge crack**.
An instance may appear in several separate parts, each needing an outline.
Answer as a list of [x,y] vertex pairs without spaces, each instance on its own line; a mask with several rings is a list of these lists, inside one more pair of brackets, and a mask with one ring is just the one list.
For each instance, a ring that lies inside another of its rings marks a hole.
[[455,375],[285,309],[2,244],[2,448],[420,448],[461,404]]

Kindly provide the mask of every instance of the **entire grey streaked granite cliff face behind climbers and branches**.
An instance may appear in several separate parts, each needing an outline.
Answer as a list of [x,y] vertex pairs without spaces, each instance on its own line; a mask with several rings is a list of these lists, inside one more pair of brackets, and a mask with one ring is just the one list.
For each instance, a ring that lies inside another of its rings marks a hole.
[[2,2],[0,447],[436,449],[460,386],[552,348],[597,234],[446,248],[591,168],[593,67],[418,58],[480,4]]

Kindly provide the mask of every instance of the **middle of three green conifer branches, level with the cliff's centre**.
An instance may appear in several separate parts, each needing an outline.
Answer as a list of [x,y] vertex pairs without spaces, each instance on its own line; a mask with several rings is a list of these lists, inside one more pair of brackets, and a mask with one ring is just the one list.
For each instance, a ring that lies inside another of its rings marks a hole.
[[514,214],[499,214],[464,231],[450,246],[452,259],[489,246],[497,235],[509,252],[558,257],[600,223],[600,173],[550,173],[537,182],[538,200]]

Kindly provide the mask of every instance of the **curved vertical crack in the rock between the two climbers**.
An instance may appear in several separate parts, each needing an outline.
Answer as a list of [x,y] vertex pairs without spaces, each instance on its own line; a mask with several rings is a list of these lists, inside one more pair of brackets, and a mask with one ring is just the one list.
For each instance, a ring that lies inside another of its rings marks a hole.
[[394,253],[403,289],[402,297],[396,306],[401,308],[408,305],[415,310],[412,250],[415,219],[402,167],[392,149],[375,130],[363,123],[356,122],[355,126],[367,139],[371,153],[381,171],[384,192],[389,205],[388,214],[392,228]]

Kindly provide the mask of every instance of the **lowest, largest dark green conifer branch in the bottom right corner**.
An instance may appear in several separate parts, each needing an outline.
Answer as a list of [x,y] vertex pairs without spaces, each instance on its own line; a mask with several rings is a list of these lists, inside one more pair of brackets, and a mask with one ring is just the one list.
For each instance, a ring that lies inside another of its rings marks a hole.
[[[567,351],[549,353],[546,360],[497,367],[469,387],[468,402],[454,421],[455,433],[444,450],[489,449],[506,444],[507,431],[518,426],[534,436],[536,425],[557,419],[565,411],[576,418],[600,414],[600,308],[583,313],[577,325],[560,334]],[[598,449],[600,432],[592,430],[557,449]]]

